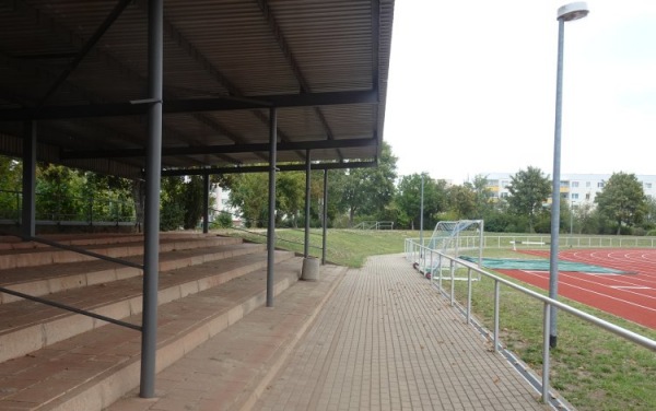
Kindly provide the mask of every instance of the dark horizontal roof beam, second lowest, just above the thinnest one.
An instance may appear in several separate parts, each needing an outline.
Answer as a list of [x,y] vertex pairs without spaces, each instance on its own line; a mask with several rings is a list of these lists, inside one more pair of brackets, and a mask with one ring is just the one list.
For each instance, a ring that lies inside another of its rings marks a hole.
[[[326,150],[326,149],[347,149],[372,146],[378,143],[376,138],[365,139],[344,139],[344,140],[318,140],[318,141],[297,141],[297,142],[280,142],[278,151],[294,151],[294,150]],[[256,144],[231,144],[231,145],[206,145],[206,146],[175,146],[163,148],[162,155],[201,155],[201,154],[238,154],[265,152],[269,148],[268,143]],[[81,158],[127,158],[144,156],[144,149],[126,149],[126,150],[89,150],[89,151],[63,151],[61,152],[62,160],[81,160]]]

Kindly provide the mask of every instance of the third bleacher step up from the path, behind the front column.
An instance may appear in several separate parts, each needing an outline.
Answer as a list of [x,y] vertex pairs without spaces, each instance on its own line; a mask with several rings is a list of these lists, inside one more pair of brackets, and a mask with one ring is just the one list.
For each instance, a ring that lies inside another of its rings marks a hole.
[[[276,257],[282,261],[293,254],[278,251]],[[214,287],[266,265],[267,255],[259,253],[161,272],[159,303]],[[48,300],[121,319],[141,313],[142,286],[142,279],[133,277],[55,293]],[[26,355],[105,325],[107,322],[102,320],[31,301],[0,305],[0,361]]]

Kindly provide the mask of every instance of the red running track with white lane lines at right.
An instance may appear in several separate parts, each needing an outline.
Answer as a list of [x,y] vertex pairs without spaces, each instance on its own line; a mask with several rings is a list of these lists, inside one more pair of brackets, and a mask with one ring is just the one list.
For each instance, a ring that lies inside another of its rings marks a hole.
[[[549,251],[520,253],[549,258]],[[586,262],[630,274],[559,272],[559,295],[656,329],[655,249],[572,249],[559,253],[561,260]],[[497,270],[506,275],[549,290],[549,272]]]

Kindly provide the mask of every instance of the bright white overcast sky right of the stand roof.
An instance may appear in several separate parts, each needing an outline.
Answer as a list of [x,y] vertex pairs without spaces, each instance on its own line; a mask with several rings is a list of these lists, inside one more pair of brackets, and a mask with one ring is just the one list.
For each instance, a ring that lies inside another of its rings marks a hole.
[[[384,140],[399,175],[553,174],[553,0],[397,0]],[[656,175],[656,1],[565,23],[561,177]]]

